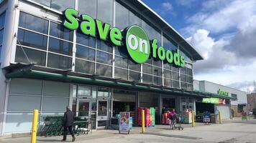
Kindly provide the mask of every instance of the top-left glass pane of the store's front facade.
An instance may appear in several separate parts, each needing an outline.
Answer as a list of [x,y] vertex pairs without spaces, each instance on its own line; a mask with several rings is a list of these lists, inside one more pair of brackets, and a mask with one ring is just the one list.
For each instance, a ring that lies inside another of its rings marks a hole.
[[30,14],[26,14],[24,12],[20,12],[19,14],[19,26],[30,29],[33,31],[38,31],[43,34],[48,33],[48,21],[45,19],[41,19],[37,16],[32,16]]

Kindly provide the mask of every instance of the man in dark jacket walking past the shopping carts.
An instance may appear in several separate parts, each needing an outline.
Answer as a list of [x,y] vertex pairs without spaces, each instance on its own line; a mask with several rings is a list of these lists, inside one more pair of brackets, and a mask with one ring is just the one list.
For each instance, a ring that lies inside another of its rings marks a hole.
[[72,142],[74,142],[76,139],[74,132],[73,132],[73,123],[74,123],[75,113],[70,111],[70,107],[66,107],[66,110],[67,111],[65,112],[64,119],[63,119],[64,134],[63,134],[63,140],[61,140],[61,141],[63,141],[63,142],[66,141],[68,130],[69,130],[70,134],[73,137]]

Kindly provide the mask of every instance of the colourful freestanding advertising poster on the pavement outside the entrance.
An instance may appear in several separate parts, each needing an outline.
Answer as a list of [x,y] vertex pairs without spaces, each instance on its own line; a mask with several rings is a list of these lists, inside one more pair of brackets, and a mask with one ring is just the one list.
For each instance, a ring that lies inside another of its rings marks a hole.
[[120,112],[119,132],[129,132],[129,112]]

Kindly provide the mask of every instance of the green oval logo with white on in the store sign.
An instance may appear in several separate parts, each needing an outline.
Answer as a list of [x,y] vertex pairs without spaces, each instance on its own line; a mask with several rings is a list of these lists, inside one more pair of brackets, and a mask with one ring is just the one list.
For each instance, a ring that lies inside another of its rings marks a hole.
[[134,25],[127,29],[126,45],[129,55],[137,63],[145,63],[150,57],[150,40],[140,26]]

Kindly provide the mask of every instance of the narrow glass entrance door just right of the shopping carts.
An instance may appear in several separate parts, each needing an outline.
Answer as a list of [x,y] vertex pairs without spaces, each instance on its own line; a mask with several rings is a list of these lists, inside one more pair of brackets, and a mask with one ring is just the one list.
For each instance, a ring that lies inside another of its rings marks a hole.
[[109,119],[108,100],[99,99],[97,102],[97,129],[104,129],[107,127],[107,121]]

